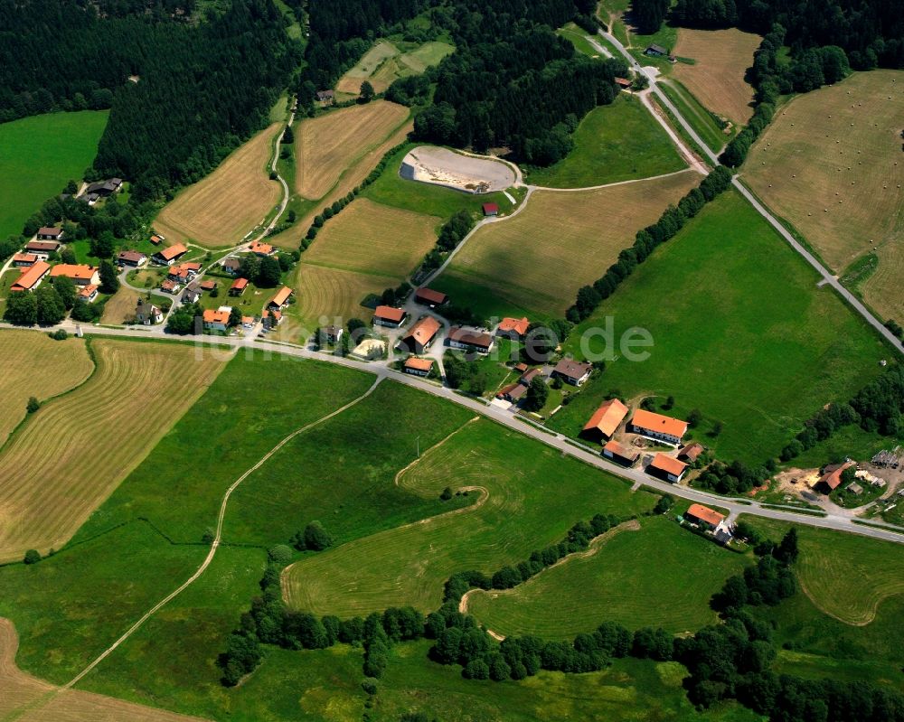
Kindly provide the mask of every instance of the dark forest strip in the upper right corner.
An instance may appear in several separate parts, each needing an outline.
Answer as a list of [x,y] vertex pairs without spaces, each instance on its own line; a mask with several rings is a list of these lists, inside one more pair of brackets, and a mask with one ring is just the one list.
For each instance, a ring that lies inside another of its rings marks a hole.
[[673,20],[702,28],[737,25],[760,34],[779,23],[794,54],[837,45],[855,70],[904,67],[904,12],[898,0],[678,0]]

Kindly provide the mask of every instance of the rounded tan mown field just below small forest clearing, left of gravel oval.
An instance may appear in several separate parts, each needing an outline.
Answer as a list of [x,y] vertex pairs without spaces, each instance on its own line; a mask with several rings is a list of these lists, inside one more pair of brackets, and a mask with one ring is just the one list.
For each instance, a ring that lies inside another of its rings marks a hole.
[[375,100],[305,120],[295,134],[296,192],[312,201],[325,196],[343,173],[393,135],[409,112]]

